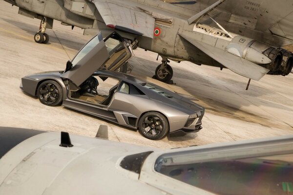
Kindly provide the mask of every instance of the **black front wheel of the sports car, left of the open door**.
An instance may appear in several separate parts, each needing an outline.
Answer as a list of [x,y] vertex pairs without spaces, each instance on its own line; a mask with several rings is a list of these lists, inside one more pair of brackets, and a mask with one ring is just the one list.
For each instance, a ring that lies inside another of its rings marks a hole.
[[37,95],[42,104],[47,106],[57,106],[63,99],[63,89],[54,80],[46,80],[40,84]]

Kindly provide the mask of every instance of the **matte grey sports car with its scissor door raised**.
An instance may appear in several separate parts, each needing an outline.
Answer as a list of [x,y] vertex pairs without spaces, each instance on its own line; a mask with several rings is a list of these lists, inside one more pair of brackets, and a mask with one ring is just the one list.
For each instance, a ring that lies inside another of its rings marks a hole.
[[133,56],[117,33],[98,34],[64,71],[21,78],[21,89],[48,106],[62,104],[126,127],[149,139],[186,135],[202,127],[204,108],[188,98],[117,70]]

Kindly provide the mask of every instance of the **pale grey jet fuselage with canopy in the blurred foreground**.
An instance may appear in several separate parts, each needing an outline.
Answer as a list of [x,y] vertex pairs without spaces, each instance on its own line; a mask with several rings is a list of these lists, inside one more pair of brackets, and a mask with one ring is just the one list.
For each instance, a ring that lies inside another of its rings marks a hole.
[[0,128],[0,195],[289,195],[293,136],[167,149]]

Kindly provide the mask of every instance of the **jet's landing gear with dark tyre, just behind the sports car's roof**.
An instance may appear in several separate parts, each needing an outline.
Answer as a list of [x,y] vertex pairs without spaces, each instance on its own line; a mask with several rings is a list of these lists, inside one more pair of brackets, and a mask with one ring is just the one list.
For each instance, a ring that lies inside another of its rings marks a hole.
[[166,82],[168,84],[172,84],[173,81],[171,78],[173,77],[173,69],[172,67],[167,64],[170,62],[167,58],[162,57],[162,64],[160,64],[155,71],[155,78],[162,82]]

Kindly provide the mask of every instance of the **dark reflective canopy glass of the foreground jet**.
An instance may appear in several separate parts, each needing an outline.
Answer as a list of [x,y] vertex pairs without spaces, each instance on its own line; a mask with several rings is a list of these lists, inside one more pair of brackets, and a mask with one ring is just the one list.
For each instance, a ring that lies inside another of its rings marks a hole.
[[[189,162],[183,163],[183,158]],[[157,159],[155,170],[218,195],[293,192],[293,154],[194,163],[191,159],[190,156],[163,155]]]

